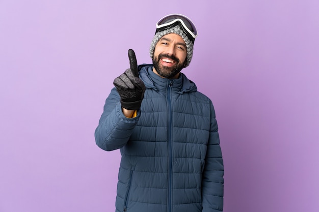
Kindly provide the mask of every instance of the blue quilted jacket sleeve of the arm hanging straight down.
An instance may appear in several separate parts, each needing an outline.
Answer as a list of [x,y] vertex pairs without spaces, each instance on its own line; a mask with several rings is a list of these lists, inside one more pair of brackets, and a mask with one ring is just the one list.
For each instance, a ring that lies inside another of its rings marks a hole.
[[211,104],[210,135],[202,175],[202,212],[223,211],[224,165],[214,107]]

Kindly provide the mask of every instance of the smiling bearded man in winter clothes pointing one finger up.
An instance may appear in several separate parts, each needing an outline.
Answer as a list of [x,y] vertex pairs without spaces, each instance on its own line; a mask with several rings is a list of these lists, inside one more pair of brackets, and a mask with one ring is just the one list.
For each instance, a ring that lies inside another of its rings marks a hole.
[[[156,24],[152,65],[114,80],[95,131],[104,150],[120,148],[116,211],[223,210],[223,159],[211,101],[180,71],[189,66],[197,31],[171,14]],[[200,71],[200,70],[197,70]]]

